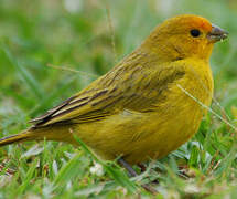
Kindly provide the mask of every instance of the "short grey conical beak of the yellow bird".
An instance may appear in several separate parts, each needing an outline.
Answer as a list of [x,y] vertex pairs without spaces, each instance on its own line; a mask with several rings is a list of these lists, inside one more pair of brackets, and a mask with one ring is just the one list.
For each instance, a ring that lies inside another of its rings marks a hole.
[[217,42],[217,41],[220,41],[220,40],[225,40],[227,36],[228,36],[228,32],[220,29],[219,27],[217,25],[212,25],[212,31],[207,34],[207,39],[211,41],[211,42]]

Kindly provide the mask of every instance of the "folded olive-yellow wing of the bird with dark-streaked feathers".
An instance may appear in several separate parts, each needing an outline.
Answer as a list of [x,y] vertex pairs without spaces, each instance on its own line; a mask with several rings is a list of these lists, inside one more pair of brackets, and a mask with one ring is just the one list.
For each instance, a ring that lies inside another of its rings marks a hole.
[[57,123],[100,121],[125,109],[149,112],[165,100],[163,91],[182,78],[181,67],[144,70],[142,66],[116,67],[77,95],[32,121],[35,127]]

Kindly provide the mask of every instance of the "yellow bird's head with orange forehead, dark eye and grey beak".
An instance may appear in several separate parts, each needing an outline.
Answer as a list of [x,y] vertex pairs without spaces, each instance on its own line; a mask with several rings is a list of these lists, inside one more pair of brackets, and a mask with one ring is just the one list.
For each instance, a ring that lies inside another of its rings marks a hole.
[[215,42],[228,33],[197,15],[171,18],[154,29],[143,45],[157,53],[160,60],[197,57],[209,60]]

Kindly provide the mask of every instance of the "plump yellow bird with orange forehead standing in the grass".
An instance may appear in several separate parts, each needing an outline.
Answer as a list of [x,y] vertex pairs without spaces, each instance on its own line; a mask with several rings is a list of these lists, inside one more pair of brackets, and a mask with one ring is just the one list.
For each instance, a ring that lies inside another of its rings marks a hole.
[[168,19],[108,73],[0,146],[44,138],[76,145],[75,134],[104,159],[161,158],[197,132],[213,96],[213,45],[227,34],[202,17]]

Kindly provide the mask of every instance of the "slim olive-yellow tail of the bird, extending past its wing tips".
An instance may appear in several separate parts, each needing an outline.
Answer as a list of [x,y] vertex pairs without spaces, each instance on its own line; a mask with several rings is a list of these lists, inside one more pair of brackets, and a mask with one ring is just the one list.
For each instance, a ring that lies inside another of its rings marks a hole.
[[21,143],[25,140],[31,140],[32,138],[32,133],[31,130],[25,130],[20,134],[11,135],[8,137],[3,137],[0,139],[0,147],[14,144],[14,143]]

